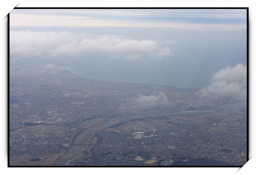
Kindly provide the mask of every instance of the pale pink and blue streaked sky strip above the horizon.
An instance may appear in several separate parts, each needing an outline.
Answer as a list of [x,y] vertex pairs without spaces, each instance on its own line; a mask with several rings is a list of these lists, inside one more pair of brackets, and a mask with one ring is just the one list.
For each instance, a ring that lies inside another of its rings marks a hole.
[[14,9],[11,26],[244,28],[245,9]]

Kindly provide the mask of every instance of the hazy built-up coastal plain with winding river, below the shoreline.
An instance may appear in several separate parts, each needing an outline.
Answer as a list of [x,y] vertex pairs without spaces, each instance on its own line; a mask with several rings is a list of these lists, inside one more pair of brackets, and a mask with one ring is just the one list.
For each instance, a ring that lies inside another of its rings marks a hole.
[[246,102],[10,64],[10,165],[244,165]]

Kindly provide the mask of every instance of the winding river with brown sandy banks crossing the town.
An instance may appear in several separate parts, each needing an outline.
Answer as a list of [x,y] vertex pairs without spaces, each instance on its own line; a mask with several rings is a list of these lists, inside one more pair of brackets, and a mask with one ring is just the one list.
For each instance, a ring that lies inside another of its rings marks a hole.
[[70,160],[74,159],[76,156],[84,153],[85,151],[89,152],[90,149],[97,145],[94,143],[95,133],[102,131],[108,127],[112,127],[124,122],[133,120],[133,119],[143,119],[143,118],[159,118],[167,116],[184,116],[195,114],[198,116],[216,116],[216,115],[226,115],[229,113],[236,112],[236,110],[246,107],[246,103],[232,103],[219,106],[218,108],[213,108],[211,110],[194,110],[194,111],[181,111],[181,112],[162,112],[162,113],[148,113],[148,114],[138,114],[129,117],[121,118],[111,118],[103,119],[92,123],[90,125],[80,128],[74,133],[74,137],[71,140],[70,147],[68,150],[60,154],[59,157],[51,165],[66,165]]

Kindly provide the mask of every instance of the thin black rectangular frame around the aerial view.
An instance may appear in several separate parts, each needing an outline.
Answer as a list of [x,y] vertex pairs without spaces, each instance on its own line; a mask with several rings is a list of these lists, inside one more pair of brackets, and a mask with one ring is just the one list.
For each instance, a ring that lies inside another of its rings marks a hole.
[[[246,28],[246,37],[247,37],[247,162],[249,160],[249,7],[14,7],[14,9],[246,9],[247,14],[247,28]],[[8,113],[8,140],[7,140],[7,148],[8,148],[8,167],[236,167],[241,168],[242,166],[237,165],[213,165],[213,166],[19,166],[19,165],[10,165],[10,13],[7,15],[7,113]]]

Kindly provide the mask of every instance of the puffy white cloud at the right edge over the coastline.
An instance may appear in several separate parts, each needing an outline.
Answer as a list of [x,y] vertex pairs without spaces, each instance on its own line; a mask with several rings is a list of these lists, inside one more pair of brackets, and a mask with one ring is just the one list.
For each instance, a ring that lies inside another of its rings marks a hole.
[[246,100],[247,66],[228,66],[212,76],[211,84],[199,91],[200,96],[228,95],[238,100]]

